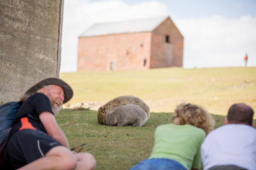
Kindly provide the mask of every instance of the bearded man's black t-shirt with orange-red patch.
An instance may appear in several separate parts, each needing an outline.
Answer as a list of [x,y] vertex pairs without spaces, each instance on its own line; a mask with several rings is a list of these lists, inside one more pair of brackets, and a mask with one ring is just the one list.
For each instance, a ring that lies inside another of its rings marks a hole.
[[[11,129],[8,138],[10,138],[10,136],[12,136],[15,132],[24,128],[41,130],[42,132],[47,133],[39,119],[39,114],[46,111],[52,113],[51,103],[46,95],[43,93],[35,93],[34,95],[27,98],[15,116],[13,121],[13,128]],[[22,118],[25,120],[23,119],[21,121]]]

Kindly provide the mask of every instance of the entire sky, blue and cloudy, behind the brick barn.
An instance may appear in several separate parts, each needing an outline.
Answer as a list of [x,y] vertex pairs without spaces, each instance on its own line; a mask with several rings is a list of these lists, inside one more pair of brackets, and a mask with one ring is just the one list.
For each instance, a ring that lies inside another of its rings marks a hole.
[[77,71],[78,37],[93,24],[170,16],[183,68],[256,67],[256,0],[64,0],[60,72]]

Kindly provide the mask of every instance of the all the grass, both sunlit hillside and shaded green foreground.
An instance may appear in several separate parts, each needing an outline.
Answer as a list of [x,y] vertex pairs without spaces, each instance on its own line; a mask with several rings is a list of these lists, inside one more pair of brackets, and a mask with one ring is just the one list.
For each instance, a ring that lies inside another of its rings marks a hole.
[[171,123],[181,102],[203,106],[213,114],[215,128],[224,124],[233,103],[246,103],[256,111],[256,67],[76,72],[60,78],[74,90],[68,104],[105,104],[117,96],[134,95],[150,107],[150,119],[140,128],[99,125],[96,111],[64,109],[56,117],[71,147],[86,143],[83,151],[95,156],[97,170],[126,170],[149,157],[155,128]]

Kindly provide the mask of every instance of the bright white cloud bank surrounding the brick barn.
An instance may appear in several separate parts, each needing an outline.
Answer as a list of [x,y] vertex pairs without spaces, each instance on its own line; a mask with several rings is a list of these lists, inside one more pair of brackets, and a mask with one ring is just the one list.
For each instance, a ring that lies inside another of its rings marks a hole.
[[[78,36],[96,22],[122,21],[168,15],[158,1],[128,5],[121,0],[65,0],[60,72],[77,71]],[[256,17],[175,19],[184,35],[185,68],[256,66]]]

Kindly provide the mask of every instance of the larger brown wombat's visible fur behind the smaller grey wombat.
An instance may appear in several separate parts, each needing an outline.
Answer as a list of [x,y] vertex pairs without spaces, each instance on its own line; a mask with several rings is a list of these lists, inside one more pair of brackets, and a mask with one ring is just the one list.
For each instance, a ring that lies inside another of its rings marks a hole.
[[110,100],[108,103],[99,107],[98,109],[98,123],[106,124],[106,114],[108,111],[113,110],[116,107],[126,105],[126,104],[136,104],[140,106],[146,113],[149,119],[150,117],[150,109],[146,103],[142,101],[142,99],[135,96],[119,96]]

